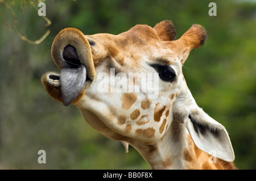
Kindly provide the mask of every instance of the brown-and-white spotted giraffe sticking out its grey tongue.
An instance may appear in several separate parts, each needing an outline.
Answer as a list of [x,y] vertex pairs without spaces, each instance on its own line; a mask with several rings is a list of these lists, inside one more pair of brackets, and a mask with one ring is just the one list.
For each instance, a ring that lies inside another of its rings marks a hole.
[[[42,83],[53,99],[74,104],[93,129],[121,141],[126,152],[133,146],[151,169],[236,169],[226,129],[197,106],[182,71],[207,32],[193,24],[175,36],[170,20],[118,35],[65,28],[51,50],[60,74],[45,73]],[[150,96],[154,91],[157,96]]]

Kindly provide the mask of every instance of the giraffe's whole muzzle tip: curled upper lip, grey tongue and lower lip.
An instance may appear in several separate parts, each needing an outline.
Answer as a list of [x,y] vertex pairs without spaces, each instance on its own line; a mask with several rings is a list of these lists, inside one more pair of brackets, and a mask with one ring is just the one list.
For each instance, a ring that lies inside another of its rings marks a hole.
[[53,99],[69,106],[81,98],[95,77],[90,44],[81,31],[65,28],[53,41],[52,58],[60,74],[46,73],[42,83]]

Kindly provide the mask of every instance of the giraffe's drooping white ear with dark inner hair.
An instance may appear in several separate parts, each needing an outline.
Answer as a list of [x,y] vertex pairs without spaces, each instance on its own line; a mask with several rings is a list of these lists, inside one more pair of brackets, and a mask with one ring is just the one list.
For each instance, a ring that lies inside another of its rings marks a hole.
[[234,161],[234,151],[226,129],[201,108],[189,111],[184,124],[199,149],[227,162]]

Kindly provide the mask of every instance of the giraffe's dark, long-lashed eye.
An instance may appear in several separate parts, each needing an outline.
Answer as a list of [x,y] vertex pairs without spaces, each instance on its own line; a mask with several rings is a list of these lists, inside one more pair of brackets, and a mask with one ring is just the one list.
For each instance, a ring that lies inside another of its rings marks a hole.
[[167,65],[158,65],[154,64],[151,65],[153,68],[155,68],[156,71],[159,73],[160,79],[166,82],[174,82],[176,79],[176,74],[174,69],[172,69],[170,66]]

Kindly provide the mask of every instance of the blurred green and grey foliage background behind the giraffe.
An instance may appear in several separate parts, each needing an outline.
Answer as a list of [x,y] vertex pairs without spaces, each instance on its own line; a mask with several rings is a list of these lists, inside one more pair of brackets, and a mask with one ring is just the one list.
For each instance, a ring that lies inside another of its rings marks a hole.
[[[118,34],[135,24],[170,19],[177,38],[192,24],[208,31],[192,50],[184,76],[197,104],[229,132],[238,169],[256,169],[256,1],[94,0],[44,1],[51,26],[32,6],[37,1],[0,1],[0,169],[150,169],[133,148],[109,140],[86,124],[75,106],[51,99],[40,77],[57,71],[51,44],[65,27],[85,34]],[[14,17],[15,14],[15,17]],[[15,31],[42,43],[33,45]],[[38,151],[46,150],[46,164]]]

